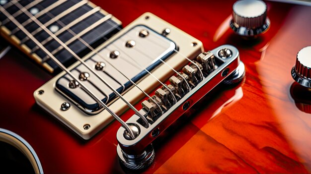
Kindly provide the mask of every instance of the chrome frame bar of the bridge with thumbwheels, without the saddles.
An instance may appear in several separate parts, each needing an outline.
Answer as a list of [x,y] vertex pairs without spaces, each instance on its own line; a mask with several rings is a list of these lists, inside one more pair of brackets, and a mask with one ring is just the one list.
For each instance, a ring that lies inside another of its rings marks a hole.
[[[230,78],[236,78],[236,74],[243,74],[244,76],[244,65],[239,60],[239,53],[235,47],[223,45],[210,52],[203,53],[204,55],[207,58],[213,57],[215,63],[214,68],[210,69],[208,73],[205,73],[200,82],[192,84],[191,90],[183,96],[176,95],[177,102],[169,109],[164,109],[164,114],[157,117],[151,116],[153,113],[146,110],[146,107],[142,103],[143,109],[140,112],[151,123],[148,128],[143,126],[140,117],[137,115],[133,115],[126,121],[136,133],[135,139],[129,138],[127,131],[123,127],[119,128],[117,132],[117,140],[119,142],[117,152],[122,165],[129,169],[144,169],[151,165],[155,157],[152,142],[156,137],[226,78],[226,81],[228,81]],[[199,58],[202,58],[202,54],[198,56],[197,60]],[[203,63],[201,64],[203,65]],[[242,68],[238,67],[239,65]],[[202,69],[206,70],[206,68],[204,69],[204,65]],[[183,71],[185,72],[186,69],[183,69]]]

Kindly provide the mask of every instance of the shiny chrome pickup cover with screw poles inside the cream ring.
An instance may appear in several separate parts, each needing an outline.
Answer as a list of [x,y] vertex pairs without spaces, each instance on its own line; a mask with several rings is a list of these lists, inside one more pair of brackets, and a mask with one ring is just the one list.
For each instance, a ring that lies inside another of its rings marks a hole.
[[[131,45],[132,44],[132,45]],[[165,60],[176,50],[174,42],[156,33],[147,26],[138,25],[87,58],[85,62],[93,67],[119,93],[127,91],[133,82],[138,82],[148,71],[152,71],[159,59]],[[100,81],[84,65],[73,68],[72,73],[86,82],[88,89],[106,104],[113,101],[116,94]],[[126,76],[126,77],[125,77]],[[129,79],[127,79],[129,78]],[[96,103],[68,74],[59,78],[56,89],[77,103],[78,107],[90,115],[98,114],[103,108]]]

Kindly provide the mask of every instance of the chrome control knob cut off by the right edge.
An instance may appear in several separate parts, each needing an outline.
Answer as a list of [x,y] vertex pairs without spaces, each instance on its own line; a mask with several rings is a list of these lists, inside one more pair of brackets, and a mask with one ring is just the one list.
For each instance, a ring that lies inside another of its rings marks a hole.
[[298,52],[292,76],[302,86],[311,88],[311,46]]

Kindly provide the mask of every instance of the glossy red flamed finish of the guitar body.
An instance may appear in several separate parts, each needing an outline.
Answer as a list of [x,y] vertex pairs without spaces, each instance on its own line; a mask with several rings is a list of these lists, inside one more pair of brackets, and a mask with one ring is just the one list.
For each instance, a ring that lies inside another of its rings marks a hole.
[[[150,11],[206,50],[232,44],[246,66],[242,83],[214,89],[158,138],[146,173],[311,172],[311,91],[290,73],[297,52],[311,45],[311,7],[266,1],[270,30],[243,40],[228,24],[233,0],[92,1],[124,26]],[[35,104],[33,91],[51,78],[15,50],[1,58],[0,127],[32,145],[45,173],[124,173],[116,154],[119,123],[85,141]]]

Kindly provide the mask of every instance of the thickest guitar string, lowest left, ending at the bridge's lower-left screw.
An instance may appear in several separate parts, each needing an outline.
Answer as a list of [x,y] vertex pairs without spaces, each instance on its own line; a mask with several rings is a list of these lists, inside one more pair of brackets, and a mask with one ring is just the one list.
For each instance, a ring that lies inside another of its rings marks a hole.
[[129,125],[127,125],[119,116],[117,116],[112,110],[110,110],[110,108],[108,108],[96,95],[94,95],[83,83],[81,83],[79,81],[79,79],[69,69],[67,69],[57,58],[55,58],[51,54],[51,52],[49,52],[35,37],[33,37],[23,27],[23,25],[21,25],[15,18],[10,16],[10,14],[6,11],[6,9],[4,9],[2,6],[0,6],[0,9],[1,9],[2,13],[6,17],[8,17],[20,30],[22,30],[26,35],[28,35],[33,42],[35,42],[37,45],[39,45],[40,48],[42,49],[42,51],[45,52],[45,54],[49,55],[59,67],[61,67],[64,71],[67,72],[67,74],[69,74],[73,79],[75,79],[78,82],[78,84],[83,88],[83,90],[86,91],[86,93],[89,96],[91,96],[98,104],[100,104],[102,107],[104,107],[106,109],[106,111],[109,112],[109,114],[111,114],[115,119],[117,119],[122,124],[122,126],[130,133],[130,136],[133,139],[135,138],[135,135],[134,135],[133,131],[131,130],[131,128],[129,127]]

